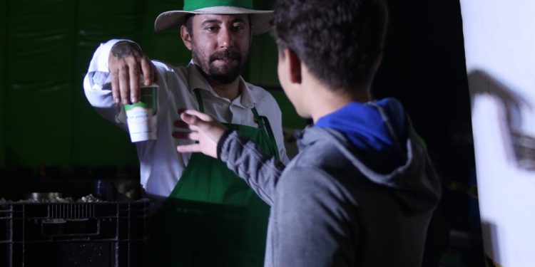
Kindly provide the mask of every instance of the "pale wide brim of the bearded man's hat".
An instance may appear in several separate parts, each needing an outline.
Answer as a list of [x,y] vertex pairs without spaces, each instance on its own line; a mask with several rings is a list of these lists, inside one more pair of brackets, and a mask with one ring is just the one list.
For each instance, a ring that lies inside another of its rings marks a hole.
[[253,35],[265,33],[272,28],[273,11],[244,9],[234,6],[212,6],[192,11],[173,10],[158,15],[154,21],[154,31],[178,28],[190,14],[250,14]]

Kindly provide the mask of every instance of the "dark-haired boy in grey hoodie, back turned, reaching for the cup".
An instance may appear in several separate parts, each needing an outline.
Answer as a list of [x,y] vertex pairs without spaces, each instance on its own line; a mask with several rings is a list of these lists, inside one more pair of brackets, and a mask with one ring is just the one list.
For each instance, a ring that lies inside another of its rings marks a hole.
[[315,125],[284,167],[212,117],[181,118],[203,152],[271,206],[265,266],[420,266],[439,180],[397,100],[372,100],[387,8],[381,0],[280,0],[278,75]]

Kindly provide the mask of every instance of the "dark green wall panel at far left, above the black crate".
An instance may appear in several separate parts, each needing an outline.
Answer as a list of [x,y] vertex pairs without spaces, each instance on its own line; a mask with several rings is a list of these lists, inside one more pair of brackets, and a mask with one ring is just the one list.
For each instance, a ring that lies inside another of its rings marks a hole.
[[8,166],[71,162],[73,3],[8,1]]

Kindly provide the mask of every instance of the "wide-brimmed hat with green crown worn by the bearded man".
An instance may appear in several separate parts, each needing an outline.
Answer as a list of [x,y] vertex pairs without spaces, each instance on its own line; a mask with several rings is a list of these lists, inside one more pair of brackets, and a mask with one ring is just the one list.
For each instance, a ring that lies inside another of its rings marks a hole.
[[154,22],[155,31],[179,27],[188,14],[250,14],[253,34],[269,31],[273,11],[253,9],[253,0],[184,0],[184,10],[166,11]]

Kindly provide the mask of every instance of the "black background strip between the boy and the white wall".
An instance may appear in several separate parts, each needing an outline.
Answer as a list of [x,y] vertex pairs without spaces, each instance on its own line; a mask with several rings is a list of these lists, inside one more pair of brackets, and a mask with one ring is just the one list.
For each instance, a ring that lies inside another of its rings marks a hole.
[[443,186],[424,266],[484,266],[459,1],[388,2],[373,93],[404,104]]

